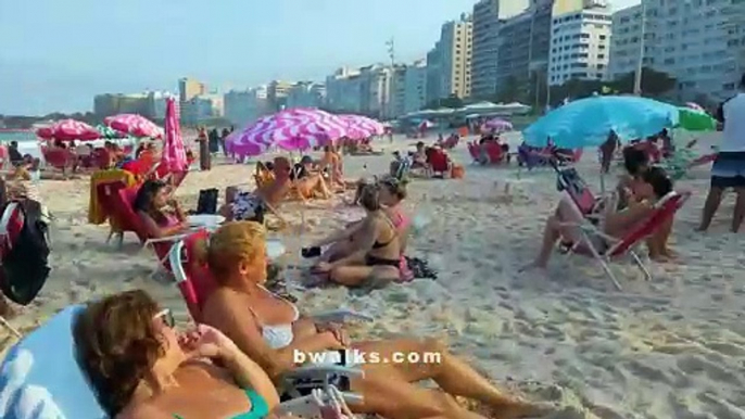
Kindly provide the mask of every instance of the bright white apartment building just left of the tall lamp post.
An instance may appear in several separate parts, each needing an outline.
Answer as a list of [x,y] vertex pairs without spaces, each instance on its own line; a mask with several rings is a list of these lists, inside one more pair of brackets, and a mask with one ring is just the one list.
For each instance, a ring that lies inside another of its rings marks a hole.
[[604,80],[610,61],[611,13],[584,9],[552,20],[548,84],[570,79]]

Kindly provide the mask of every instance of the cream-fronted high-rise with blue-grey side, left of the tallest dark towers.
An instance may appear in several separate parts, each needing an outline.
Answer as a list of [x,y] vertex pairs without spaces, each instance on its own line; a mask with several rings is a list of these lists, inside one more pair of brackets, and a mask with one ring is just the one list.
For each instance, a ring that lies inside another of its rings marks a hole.
[[469,15],[464,14],[460,20],[442,25],[440,40],[427,54],[429,101],[470,96],[472,37],[473,24]]

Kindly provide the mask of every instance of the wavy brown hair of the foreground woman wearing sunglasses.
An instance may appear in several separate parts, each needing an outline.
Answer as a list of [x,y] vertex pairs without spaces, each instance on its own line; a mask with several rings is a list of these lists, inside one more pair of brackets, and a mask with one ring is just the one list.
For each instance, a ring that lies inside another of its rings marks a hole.
[[104,410],[115,417],[164,347],[153,329],[155,301],[142,290],[89,303],[73,320],[75,355]]

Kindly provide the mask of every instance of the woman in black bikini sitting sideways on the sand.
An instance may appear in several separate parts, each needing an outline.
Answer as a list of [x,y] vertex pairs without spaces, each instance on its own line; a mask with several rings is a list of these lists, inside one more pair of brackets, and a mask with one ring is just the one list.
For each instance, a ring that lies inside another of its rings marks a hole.
[[390,217],[380,202],[380,186],[365,187],[359,204],[367,211],[367,217],[359,227],[356,251],[339,261],[320,262],[315,270],[328,274],[332,282],[346,287],[384,287],[399,279],[401,242]]

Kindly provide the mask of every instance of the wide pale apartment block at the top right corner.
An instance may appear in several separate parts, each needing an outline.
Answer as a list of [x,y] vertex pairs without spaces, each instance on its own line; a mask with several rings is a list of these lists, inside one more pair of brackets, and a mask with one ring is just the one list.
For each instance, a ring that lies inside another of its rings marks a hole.
[[[675,77],[679,100],[705,97],[720,101],[731,97],[745,71],[743,0],[643,2],[642,7],[617,12],[619,21],[629,16],[627,24],[631,26],[624,36],[633,40],[644,34],[644,45],[636,45],[635,55],[631,48],[624,53],[621,47],[626,45],[615,48],[611,74],[635,71],[643,47],[645,66]],[[646,10],[646,20],[642,10]]]

